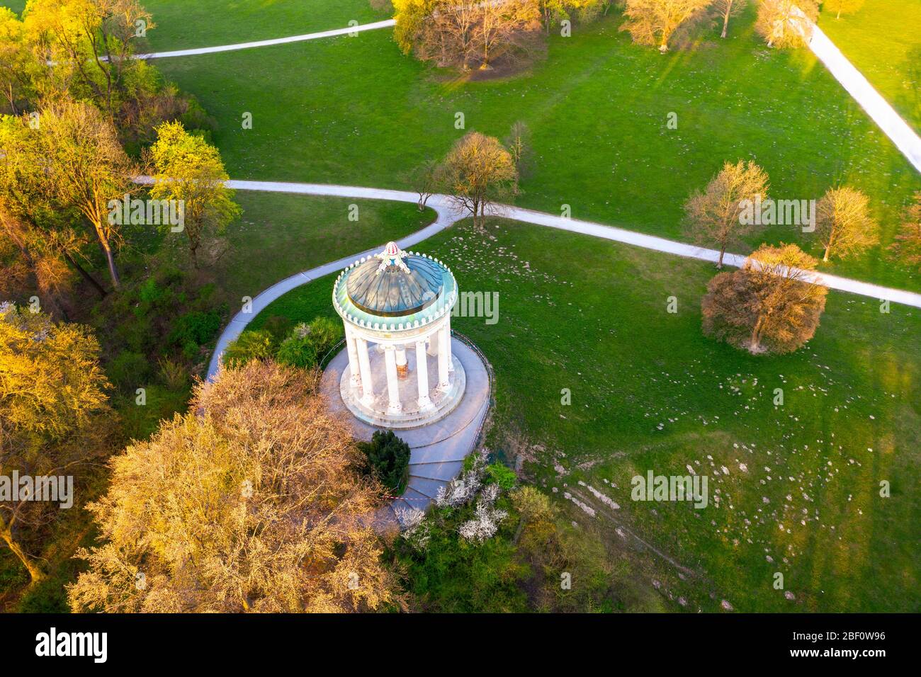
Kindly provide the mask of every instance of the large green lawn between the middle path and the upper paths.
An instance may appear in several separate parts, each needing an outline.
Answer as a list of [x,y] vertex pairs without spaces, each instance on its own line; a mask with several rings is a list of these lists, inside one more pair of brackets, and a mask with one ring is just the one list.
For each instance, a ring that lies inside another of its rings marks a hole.
[[[454,127],[463,112],[468,130],[499,137],[517,120],[530,126],[519,204],[569,204],[576,217],[680,238],[687,195],[724,159],[753,158],[776,198],[818,198],[837,182],[866,191],[887,242],[921,178],[810,53],[768,50],[752,19],[726,41],[662,56],[609,18],[552,38],[529,75],[491,82],[446,79],[402,56],[389,30],[158,65],[216,116],[239,178],[399,187],[402,169],[464,133]],[[252,129],[239,123],[245,111]],[[763,239],[803,236],[777,227],[750,244]],[[826,269],[921,288],[921,275],[879,251]]]

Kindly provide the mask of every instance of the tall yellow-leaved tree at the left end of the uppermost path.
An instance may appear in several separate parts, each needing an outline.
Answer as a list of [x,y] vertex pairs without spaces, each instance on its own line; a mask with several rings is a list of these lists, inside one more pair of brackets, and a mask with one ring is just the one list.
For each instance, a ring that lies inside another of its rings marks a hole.
[[[146,68],[134,45],[155,24],[137,0],[29,0],[29,42],[45,64],[45,87],[89,99],[115,121]],[[48,92],[46,92],[48,93]]]

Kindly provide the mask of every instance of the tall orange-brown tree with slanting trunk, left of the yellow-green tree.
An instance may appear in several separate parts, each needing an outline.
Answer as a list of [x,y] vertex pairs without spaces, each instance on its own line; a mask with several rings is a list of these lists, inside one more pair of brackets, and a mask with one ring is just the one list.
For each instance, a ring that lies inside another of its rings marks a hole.
[[125,155],[111,122],[87,103],[64,100],[41,108],[41,140],[47,184],[53,197],[87,219],[109,267],[112,286],[120,279],[113,247],[121,238],[109,203],[137,192],[134,164]]

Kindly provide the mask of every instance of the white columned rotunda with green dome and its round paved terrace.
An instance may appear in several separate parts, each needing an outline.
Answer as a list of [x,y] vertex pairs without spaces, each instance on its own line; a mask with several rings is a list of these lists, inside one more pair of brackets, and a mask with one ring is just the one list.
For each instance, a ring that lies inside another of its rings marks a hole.
[[393,242],[345,268],[332,288],[346,345],[321,391],[333,412],[351,414],[356,438],[391,429],[412,449],[409,484],[383,519],[426,509],[478,442],[490,377],[479,351],[452,335],[457,299],[447,265]]

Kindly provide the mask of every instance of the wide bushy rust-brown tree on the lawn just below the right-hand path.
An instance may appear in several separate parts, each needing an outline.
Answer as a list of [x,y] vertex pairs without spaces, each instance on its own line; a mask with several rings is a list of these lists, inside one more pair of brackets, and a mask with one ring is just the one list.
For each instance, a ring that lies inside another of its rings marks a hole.
[[740,270],[717,274],[701,303],[707,336],[754,355],[789,353],[819,326],[828,288],[816,260],[793,244],[762,245]]

